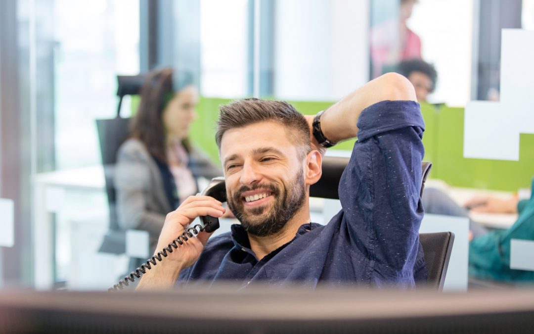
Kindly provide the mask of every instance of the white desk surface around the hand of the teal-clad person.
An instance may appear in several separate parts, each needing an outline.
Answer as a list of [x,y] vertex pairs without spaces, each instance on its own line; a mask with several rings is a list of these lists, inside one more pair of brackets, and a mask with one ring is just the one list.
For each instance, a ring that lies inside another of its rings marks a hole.
[[[451,187],[442,180],[436,179],[428,179],[425,182],[425,187],[433,187],[443,190],[460,206],[464,206],[467,200],[474,196],[491,195],[500,198],[510,198],[513,195],[513,193],[509,191]],[[517,214],[470,212],[469,218],[485,227],[506,229],[511,227],[517,220]]]

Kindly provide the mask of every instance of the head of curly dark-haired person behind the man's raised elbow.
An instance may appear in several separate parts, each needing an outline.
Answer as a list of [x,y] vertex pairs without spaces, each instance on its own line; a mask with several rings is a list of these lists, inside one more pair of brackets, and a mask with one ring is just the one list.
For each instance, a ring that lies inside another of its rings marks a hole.
[[427,102],[427,96],[436,88],[437,72],[434,65],[422,59],[410,59],[398,64],[396,72],[410,80],[419,102]]

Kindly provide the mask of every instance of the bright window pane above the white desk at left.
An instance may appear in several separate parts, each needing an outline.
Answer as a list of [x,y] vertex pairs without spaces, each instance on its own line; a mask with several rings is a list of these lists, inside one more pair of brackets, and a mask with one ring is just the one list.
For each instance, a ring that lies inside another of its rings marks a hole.
[[95,119],[116,112],[116,74],[139,73],[139,3],[58,0],[54,18],[56,168],[98,164]]

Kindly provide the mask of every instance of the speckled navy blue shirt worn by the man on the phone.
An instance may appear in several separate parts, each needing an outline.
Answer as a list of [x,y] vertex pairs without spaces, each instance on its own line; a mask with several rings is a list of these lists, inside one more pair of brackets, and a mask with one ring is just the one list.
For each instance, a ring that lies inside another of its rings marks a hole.
[[419,243],[423,208],[419,104],[382,101],[365,108],[358,141],[339,184],[342,209],[322,226],[303,224],[295,238],[263,259],[250,250],[245,230],[210,238],[178,285],[233,282],[358,284],[412,288],[426,278]]

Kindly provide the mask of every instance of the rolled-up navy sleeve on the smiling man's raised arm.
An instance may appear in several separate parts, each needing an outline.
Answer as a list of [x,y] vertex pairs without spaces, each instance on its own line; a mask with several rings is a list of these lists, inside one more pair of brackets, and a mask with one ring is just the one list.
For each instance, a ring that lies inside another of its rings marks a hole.
[[419,104],[382,101],[362,111],[358,141],[339,185],[342,228],[373,263],[372,276],[412,275],[423,216],[425,123]]

